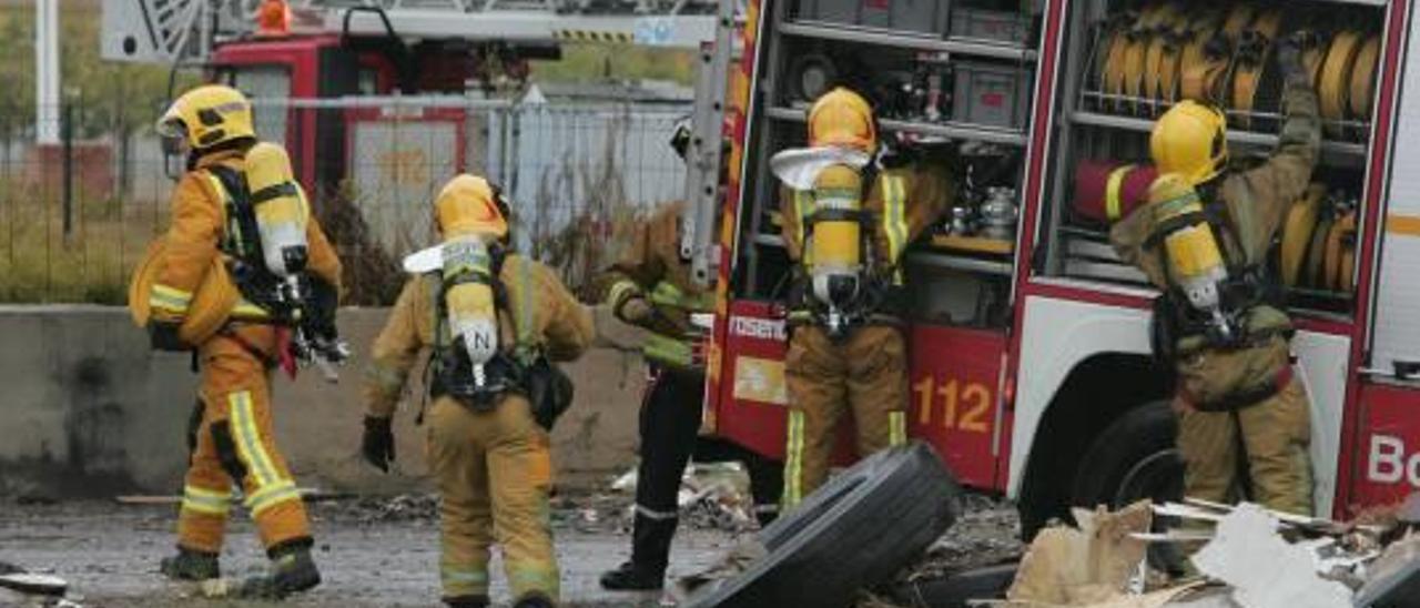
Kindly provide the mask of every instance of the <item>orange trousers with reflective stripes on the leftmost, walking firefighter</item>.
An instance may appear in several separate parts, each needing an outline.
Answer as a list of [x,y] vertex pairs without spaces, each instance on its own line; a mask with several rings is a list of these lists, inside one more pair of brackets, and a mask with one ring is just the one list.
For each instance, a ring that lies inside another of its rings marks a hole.
[[231,332],[197,349],[202,386],[189,436],[192,453],[178,514],[178,544],[222,551],[233,483],[241,486],[243,504],[268,551],[287,543],[310,543],[305,507],[275,447],[268,372],[258,358],[275,351],[275,328],[241,325]]

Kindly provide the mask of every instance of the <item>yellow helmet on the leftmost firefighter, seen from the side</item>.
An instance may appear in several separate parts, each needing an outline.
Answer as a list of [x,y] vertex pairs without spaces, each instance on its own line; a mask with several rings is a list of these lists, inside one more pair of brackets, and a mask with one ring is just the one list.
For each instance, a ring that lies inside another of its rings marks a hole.
[[256,136],[247,97],[220,84],[185,92],[158,119],[156,129],[165,138],[187,139],[193,149]]

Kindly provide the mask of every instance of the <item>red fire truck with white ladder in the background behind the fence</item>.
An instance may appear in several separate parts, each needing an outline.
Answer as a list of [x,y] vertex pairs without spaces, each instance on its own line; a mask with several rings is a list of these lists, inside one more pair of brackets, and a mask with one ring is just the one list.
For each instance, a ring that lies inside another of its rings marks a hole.
[[726,53],[707,51],[704,63],[726,74],[734,7],[719,0],[104,0],[101,51],[112,61],[172,65],[175,74],[195,68],[202,80],[257,99],[290,99],[257,105],[258,131],[291,151],[302,186],[328,193],[359,180],[344,161],[369,148],[366,134],[378,136],[393,122],[419,131],[406,139],[439,175],[483,166],[477,139],[486,125],[470,109],[510,102],[496,84],[524,82],[528,61],[559,58],[564,43],[700,50],[723,38]]

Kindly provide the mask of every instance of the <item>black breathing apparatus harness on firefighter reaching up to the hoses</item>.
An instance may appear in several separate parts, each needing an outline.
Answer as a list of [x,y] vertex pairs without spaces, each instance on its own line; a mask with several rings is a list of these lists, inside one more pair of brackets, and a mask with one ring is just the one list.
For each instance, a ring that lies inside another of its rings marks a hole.
[[[1154,300],[1150,341],[1156,357],[1174,362],[1187,352],[1179,352],[1179,340],[1201,335],[1213,348],[1237,349],[1278,335],[1281,331],[1250,331],[1247,315],[1258,305],[1278,305],[1281,294],[1275,280],[1258,264],[1244,264],[1235,260],[1224,246],[1234,239],[1227,207],[1217,199],[1216,180],[1200,185],[1200,205],[1173,215],[1154,226],[1145,240],[1146,250],[1166,250],[1162,264],[1167,287]],[[1198,233],[1189,233],[1197,230]],[[1167,260],[1173,247],[1170,240],[1201,237],[1203,230],[1211,232],[1221,264],[1210,271],[1184,277]]]

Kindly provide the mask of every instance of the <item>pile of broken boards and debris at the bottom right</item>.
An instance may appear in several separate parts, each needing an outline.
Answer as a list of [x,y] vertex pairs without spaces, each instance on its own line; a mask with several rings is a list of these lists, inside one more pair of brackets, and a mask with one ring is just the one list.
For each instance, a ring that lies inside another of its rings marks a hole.
[[[1000,565],[951,574],[917,568],[895,599],[914,607],[1420,607],[1420,494],[1358,523],[1196,499],[1076,509],[1074,519],[1078,527],[1052,526],[1035,537],[1008,587]],[[1150,550],[1160,547],[1174,551]],[[1180,564],[1160,564],[1160,555]],[[1179,570],[1173,577],[1159,570],[1170,567]],[[981,592],[993,575],[1000,588]],[[971,585],[977,594],[961,595]]]

